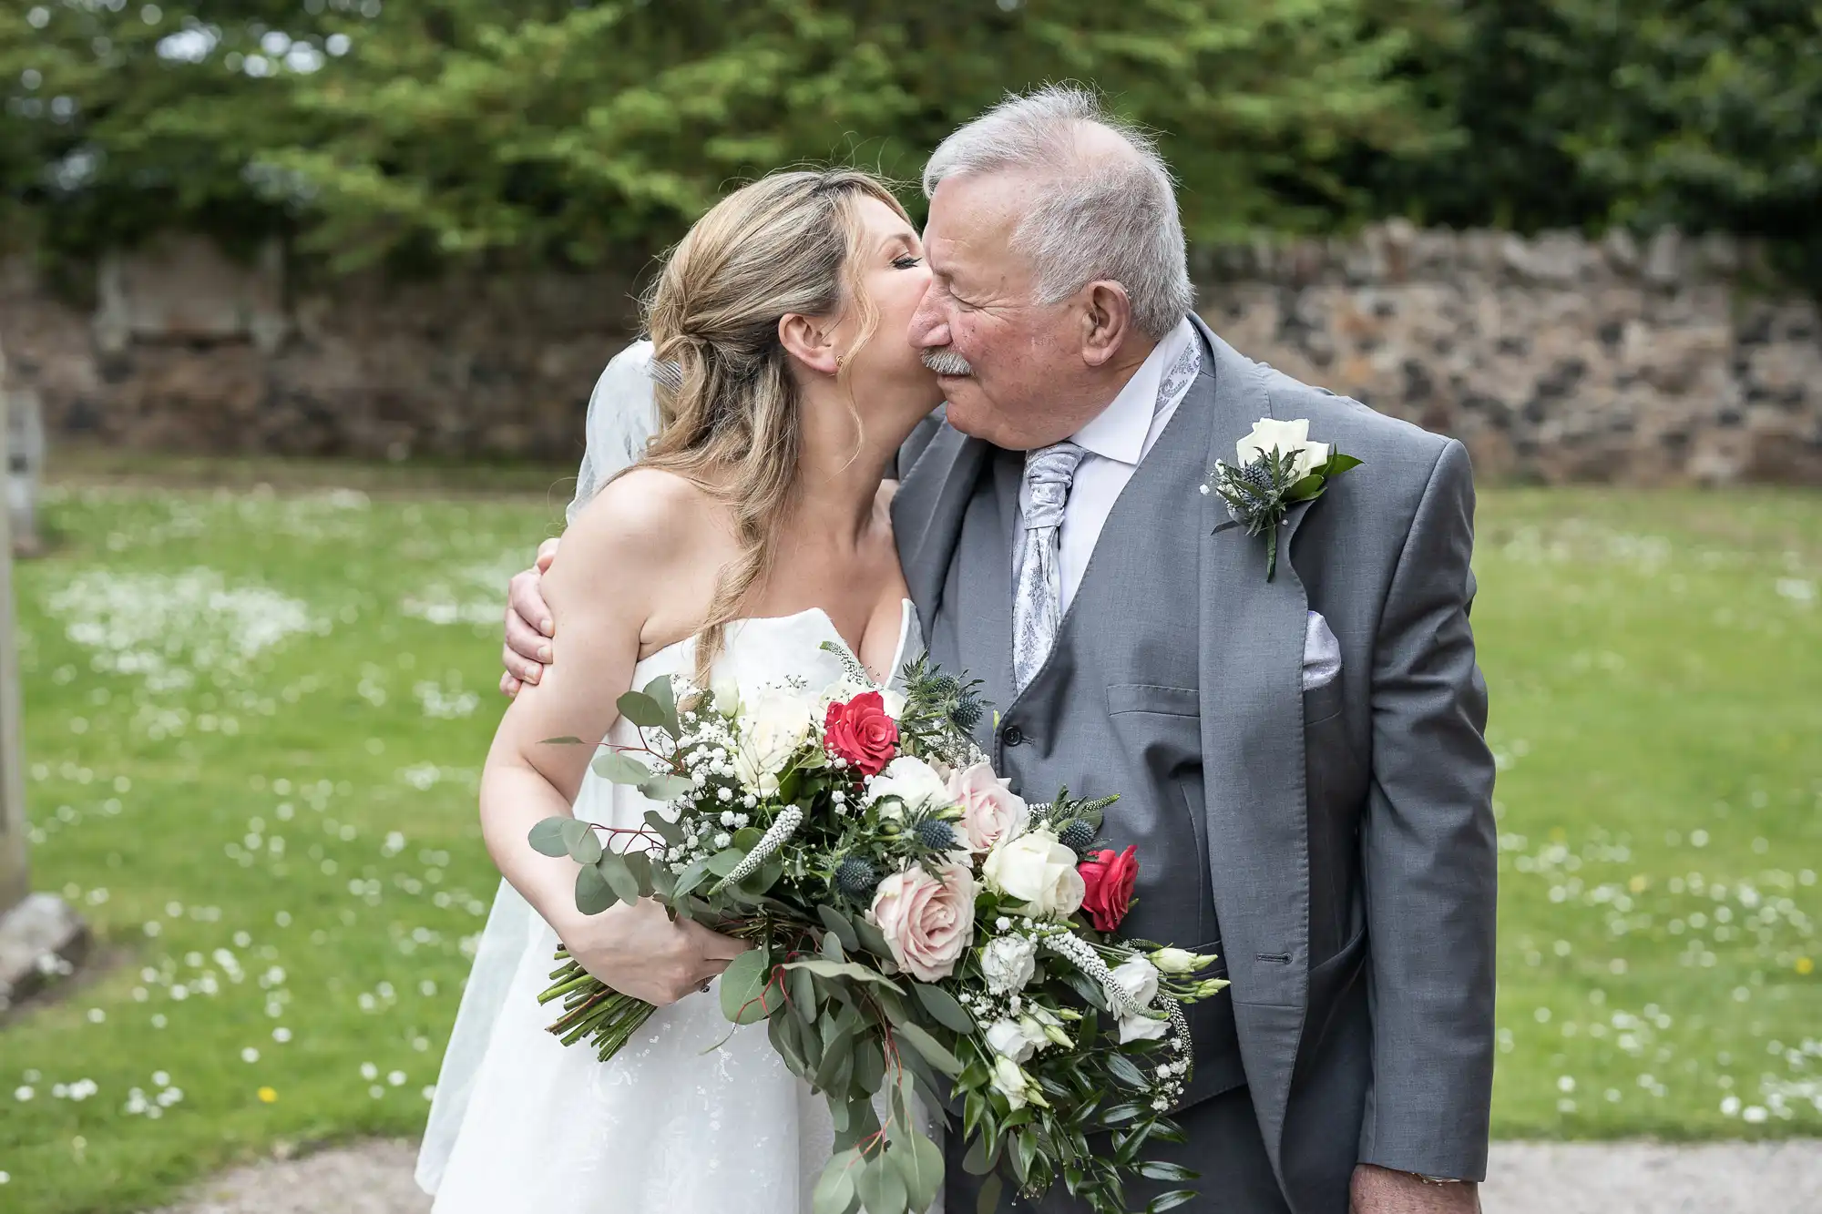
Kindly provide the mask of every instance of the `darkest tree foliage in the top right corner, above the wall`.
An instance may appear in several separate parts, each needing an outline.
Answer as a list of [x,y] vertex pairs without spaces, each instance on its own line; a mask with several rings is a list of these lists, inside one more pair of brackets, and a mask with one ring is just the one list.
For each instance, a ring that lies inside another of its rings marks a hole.
[[1802,0],[1463,0],[1403,64],[1452,135],[1374,151],[1374,210],[1773,241],[1822,286],[1822,11]]

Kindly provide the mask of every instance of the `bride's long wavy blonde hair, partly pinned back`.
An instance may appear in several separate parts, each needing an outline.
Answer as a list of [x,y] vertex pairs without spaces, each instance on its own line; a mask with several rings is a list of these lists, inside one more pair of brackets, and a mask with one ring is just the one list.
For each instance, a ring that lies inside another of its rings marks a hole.
[[[723,503],[740,545],[696,634],[703,684],[727,623],[771,572],[773,538],[796,490],[802,401],[778,321],[853,308],[853,350],[878,326],[860,290],[864,199],[906,213],[885,182],[858,170],[798,170],[743,186],[696,221],[645,301],[654,365],[674,363],[678,376],[658,383],[660,432],[640,467],[683,476]],[[836,372],[844,388],[847,365]]]

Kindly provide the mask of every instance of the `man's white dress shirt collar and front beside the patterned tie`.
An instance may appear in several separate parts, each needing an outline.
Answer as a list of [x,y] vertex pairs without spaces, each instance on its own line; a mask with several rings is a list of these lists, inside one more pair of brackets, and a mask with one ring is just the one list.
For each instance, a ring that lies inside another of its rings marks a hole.
[[[1082,448],[1082,463],[1075,468],[1070,499],[1062,507],[1062,527],[1057,530],[1059,609],[1070,611],[1075,589],[1082,585],[1088,558],[1095,552],[1100,529],[1113,512],[1126,481],[1139,470],[1157,436],[1170,425],[1177,405],[1190,392],[1190,383],[1162,405],[1157,399],[1164,372],[1195,341],[1195,326],[1188,317],[1170,330],[1150,357],[1139,365],[1113,403],[1093,421],[1070,436]],[[1013,534],[1013,581],[1018,580],[1018,556],[1024,545],[1024,512],[1031,505],[1031,489],[1018,489],[1018,523]]]

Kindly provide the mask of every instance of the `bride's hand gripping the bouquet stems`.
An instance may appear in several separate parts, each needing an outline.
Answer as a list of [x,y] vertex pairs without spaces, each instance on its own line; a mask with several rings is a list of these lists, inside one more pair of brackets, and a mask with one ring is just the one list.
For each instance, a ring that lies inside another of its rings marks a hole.
[[701,990],[747,944],[694,919],[672,922],[650,899],[601,915],[578,915],[558,930],[581,968],[623,995],[667,1006]]

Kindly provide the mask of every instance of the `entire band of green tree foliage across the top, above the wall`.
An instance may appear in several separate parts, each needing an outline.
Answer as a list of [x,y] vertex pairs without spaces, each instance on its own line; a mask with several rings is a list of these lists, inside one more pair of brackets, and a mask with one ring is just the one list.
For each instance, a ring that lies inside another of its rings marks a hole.
[[1802,0],[7,5],[0,221],[77,255],[177,226],[333,268],[636,270],[731,184],[805,160],[913,182],[1046,80],[1161,133],[1193,241],[1680,224],[1822,283]]

